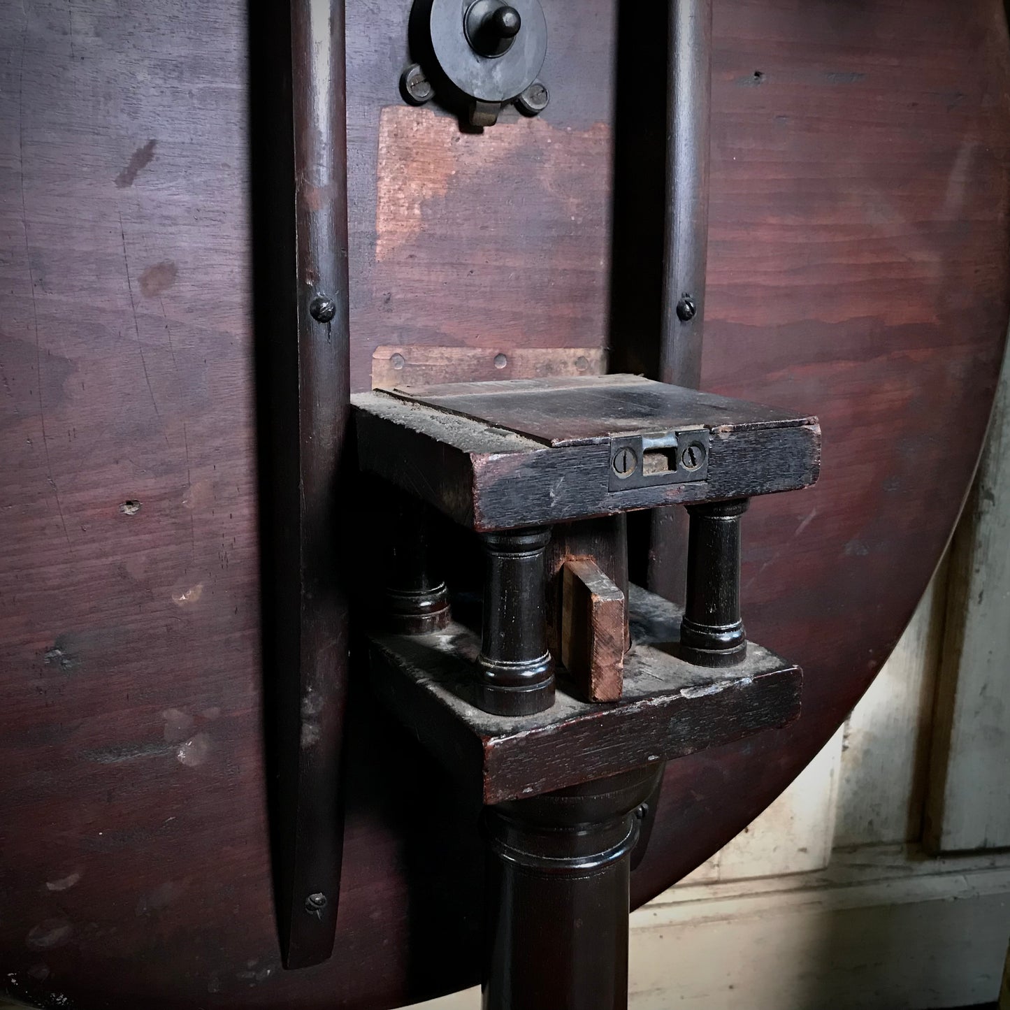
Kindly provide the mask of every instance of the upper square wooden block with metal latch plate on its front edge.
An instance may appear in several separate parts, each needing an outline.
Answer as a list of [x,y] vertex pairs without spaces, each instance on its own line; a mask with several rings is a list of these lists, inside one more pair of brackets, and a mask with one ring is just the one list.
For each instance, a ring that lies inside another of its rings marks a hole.
[[638,376],[453,383],[352,402],[362,467],[478,530],[790,491],[820,468],[816,417]]

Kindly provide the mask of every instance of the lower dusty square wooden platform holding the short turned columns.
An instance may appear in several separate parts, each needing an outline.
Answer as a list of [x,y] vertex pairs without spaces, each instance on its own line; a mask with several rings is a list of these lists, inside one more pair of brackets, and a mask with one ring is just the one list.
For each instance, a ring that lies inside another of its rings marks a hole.
[[631,587],[631,649],[619,701],[566,690],[529,716],[491,715],[468,699],[480,637],[458,623],[372,639],[372,683],[398,718],[482,802],[501,803],[779,728],[800,713],[802,672],[753,642],[735,667],[674,654],[680,611]]

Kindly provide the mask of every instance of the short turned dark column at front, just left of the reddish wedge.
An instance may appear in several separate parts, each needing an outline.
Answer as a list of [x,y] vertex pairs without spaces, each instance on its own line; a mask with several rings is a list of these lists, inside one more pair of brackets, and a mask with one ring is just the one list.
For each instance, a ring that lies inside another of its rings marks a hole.
[[484,533],[487,554],[477,704],[496,715],[530,715],[554,701],[547,648],[543,527]]

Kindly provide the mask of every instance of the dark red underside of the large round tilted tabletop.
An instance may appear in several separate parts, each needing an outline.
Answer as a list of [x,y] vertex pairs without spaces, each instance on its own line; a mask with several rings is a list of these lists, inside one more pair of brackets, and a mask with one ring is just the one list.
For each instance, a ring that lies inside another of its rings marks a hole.
[[[377,346],[619,358],[659,332],[662,93],[635,99],[661,126],[627,216],[616,4],[544,7],[550,106],[479,136],[402,105],[408,5],[348,4],[356,389]],[[245,10],[0,10],[0,979],[39,1003],[381,1008],[477,978],[477,811],[354,693],[334,955],[280,968]],[[635,901],[770,802],[897,639],[1010,293],[998,0],[725,0],[714,35],[702,385],[821,419],[820,483],[743,523],[747,629],[803,666],[804,714],[671,764]]]

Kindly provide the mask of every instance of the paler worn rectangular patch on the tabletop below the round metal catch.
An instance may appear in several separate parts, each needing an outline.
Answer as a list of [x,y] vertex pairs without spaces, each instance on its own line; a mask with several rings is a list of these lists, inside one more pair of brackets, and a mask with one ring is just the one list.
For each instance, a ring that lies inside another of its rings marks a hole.
[[355,389],[392,340],[492,359],[608,342],[611,128],[562,125],[559,107],[505,113],[482,133],[431,107],[370,110],[375,182],[368,205],[360,194],[369,217],[352,243]]

